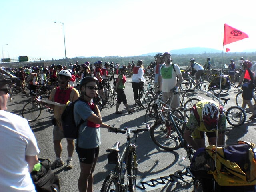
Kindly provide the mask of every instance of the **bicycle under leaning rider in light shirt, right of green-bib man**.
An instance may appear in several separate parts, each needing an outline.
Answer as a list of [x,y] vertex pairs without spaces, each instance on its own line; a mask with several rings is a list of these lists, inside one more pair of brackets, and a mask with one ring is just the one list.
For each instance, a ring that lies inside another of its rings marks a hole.
[[192,76],[190,75],[190,73],[187,73],[187,75],[187,78],[185,78],[180,85],[181,90],[190,90],[192,88],[192,85],[194,86],[194,89],[208,90],[208,87],[210,85],[210,82],[208,80],[202,80],[202,78],[200,78],[198,80],[198,88],[196,88],[196,76]]

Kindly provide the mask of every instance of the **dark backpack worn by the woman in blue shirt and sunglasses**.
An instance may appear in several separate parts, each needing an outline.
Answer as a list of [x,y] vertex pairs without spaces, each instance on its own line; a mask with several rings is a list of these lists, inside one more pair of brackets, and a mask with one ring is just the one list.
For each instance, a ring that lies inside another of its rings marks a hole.
[[81,119],[80,123],[76,125],[76,122],[74,120],[74,105],[77,101],[84,101],[84,100],[81,98],[78,98],[74,102],[68,101],[61,115],[61,122],[62,122],[64,136],[70,139],[78,138],[79,126],[82,123],[84,123],[84,120]]

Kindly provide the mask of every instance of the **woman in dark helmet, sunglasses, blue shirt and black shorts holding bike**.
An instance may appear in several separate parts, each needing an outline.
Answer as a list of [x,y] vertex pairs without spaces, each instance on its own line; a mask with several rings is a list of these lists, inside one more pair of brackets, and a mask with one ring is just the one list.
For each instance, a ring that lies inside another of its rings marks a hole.
[[80,82],[80,99],[74,105],[74,119],[76,125],[81,120],[85,122],[79,126],[78,139],[76,140],[76,152],[80,162],[80,176],[78,190],[80,192],[93,191],[93,175],[98,155],[100,142],[100,126],[114,132],[114,128],[104,124],[101,119],[95,97],[98,90],[98,79],[94,76],[86,76]]

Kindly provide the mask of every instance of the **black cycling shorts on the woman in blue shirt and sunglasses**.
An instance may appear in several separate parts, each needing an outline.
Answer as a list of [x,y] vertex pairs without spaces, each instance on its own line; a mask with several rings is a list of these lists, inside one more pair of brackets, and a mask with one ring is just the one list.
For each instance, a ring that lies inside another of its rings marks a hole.
[[94,159],[99,156],[100,147],[84,149],[76,146],[76,152],[78,154],[79,162],[92,164]]

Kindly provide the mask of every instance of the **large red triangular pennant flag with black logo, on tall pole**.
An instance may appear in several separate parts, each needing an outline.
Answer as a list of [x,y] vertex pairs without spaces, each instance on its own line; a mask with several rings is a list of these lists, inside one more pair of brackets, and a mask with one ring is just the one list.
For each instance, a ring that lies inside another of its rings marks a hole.
[[246,33],[227,25],[226,23],[224,24],[223,45],[230,44],[232,42],[236,42],[248,37],[249,36]]

